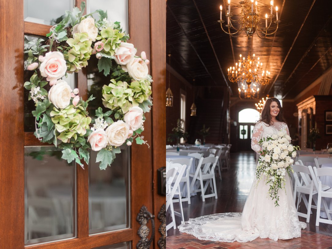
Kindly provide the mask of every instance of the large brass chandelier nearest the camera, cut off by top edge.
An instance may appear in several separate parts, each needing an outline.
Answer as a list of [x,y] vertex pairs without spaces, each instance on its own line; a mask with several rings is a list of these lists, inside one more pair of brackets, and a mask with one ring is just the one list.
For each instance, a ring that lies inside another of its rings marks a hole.
[[[228,9],[226,9],[226,29],[222,27],[222,23],[224,23],[225,21],[222,20],[222,5],[220,5],[220,20],[218,20],[218,22],[220,23],[221,29],[225,33],[236,37],[239,36],[244,30],[247,33],[248,39],[250,39],[250,37],[252,37],[255,31],[257,31],[257,36],[264,39],[267,35],[274,34],[278,30],[278,26],[280,23],[280,20],[278,18],[278,6],[274,8],[273,1],[270,2],[270,15],[266,13],[265,18],[261,17],[260,15],[257,1],[254,5],[254,0],[244,0],[239,2],[239,5],[240,6],[238,7],[242,8],[241,12],[239,14],[234,14],[233,11],[230,10],[230,0],[228,0]],[[276,11],[276,15],[273,14],[274,9]],[[239,16],[239,18],[233,19],[233,16]],[[276,20],[272,21],[275,17]],[[260,19],[265,20],[265,27],[261,27]],[[272,25],[272,23],[275,23],[276,27],[275,25]]]

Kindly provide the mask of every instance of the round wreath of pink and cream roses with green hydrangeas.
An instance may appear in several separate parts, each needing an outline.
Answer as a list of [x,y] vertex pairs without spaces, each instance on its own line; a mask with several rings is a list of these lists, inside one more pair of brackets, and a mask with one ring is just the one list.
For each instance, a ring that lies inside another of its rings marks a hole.
[[[68,163],[75,160],[82,167],[83,160],[89,162],[88,149],[98,151],[96,162],[106,169],[121,153],[120,146],[130,146],[134,139],[137,144],[147,144],[140,134],[144,113],[152,106],[152,78],[145,52],[135,56],[137,50],[126,42],[129,36],[120,23],[108,21],[103,10],[83,15],[84,8],[82,2],[81,10],[66,11],[46,35],[47,45],[42,45],[43,39],[29,42],[25,67],[35,72],[24,87],[36,106],[32,111],[35,136],[62,149]],[[99,14],[98,21],[92,17],[94,13]],[[103,113],[99,107],[93,118],[88,116],[87,106],[94,97],[84,101],[78,89],[72,90],[61,79],[86,67],[91,55],[99,59],[99,72],[111,73],[109,85],[102,88],[103,105],[110,110]]]

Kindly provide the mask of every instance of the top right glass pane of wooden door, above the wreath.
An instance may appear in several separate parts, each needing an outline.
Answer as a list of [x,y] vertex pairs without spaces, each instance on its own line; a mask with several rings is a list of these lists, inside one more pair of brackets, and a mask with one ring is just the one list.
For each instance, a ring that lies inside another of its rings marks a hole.
[[[101,7],[102,6],[102,7]],[[116,8],[115,8],[116,6]],[[96,10],[107,10],[108,20],[111,22],[120,22],[122,31],[128,33],[128,2],[127,0],[87,0],[87,13]],[[98,13],[93,14],[96,20],[99,20]]]

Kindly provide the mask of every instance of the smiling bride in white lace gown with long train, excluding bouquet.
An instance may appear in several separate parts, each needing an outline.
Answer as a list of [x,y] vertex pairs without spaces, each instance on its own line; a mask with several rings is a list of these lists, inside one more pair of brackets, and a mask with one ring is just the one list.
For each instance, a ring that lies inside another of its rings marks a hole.
[[[262,118],[254,127],[251,148],[259,154],[260,139],[282,130],[289,135],[280,101],[269,98],[262,110]],[[306,223],[298,220],[291,180],[288,175],[286,177],[286,191],[278,192],[279,206],[275,207],[274,200],[268,197],[269,186],[265,185],[266,177],[263,175],[258,183],[257,179],[254,180],[242,214],[224,213],[193,218],[179,226],[180,232],[202,240],[221,242],[247,242],[258,237],[273,240],[301,237],[301,229],[306,228]]]

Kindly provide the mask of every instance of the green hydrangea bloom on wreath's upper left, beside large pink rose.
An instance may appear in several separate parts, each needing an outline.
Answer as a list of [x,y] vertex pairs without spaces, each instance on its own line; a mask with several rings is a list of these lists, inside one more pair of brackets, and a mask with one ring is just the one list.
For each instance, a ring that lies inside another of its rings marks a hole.
[[87,33],[75,33],[73,38],[69,38],[67,43],[72,48],[64,54],[67,61],[67,68],[70,72],[78,72],[82,67],[88,65],[88,60],[92,53],[91,44]]

